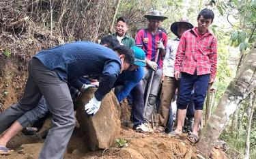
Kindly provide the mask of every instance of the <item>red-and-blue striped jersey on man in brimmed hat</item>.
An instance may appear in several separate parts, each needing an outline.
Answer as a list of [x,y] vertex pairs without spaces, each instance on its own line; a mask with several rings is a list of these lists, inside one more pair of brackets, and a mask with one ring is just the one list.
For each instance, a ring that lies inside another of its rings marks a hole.
[[[137,46],[142,46],[142,49],[145,51],[146,58],[155,61],[156,54],[157,54],[157,43],[162,41],[165,48],[167,47],[167,34],[158,30],[155,35],[153,35],[147,29],[140,29],[136,35],[135,43]],[[162,68],[162,56],[158,55],[158,69]]]

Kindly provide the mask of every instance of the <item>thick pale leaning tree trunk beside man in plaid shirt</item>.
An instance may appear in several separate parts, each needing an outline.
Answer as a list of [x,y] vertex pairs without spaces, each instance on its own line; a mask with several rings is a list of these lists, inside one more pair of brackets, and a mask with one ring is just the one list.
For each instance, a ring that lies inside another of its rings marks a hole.
[[218,102],[214,113],[208,119],[197,144],[198,149],[204,154],[210,155],[214,142],[218,140],[221,132],[227,125],[238,104],[251,93],[256,87],[256,42],[251,53],[246,55],[244,62],[236,74],[236,77],[229,83],[225,93]]

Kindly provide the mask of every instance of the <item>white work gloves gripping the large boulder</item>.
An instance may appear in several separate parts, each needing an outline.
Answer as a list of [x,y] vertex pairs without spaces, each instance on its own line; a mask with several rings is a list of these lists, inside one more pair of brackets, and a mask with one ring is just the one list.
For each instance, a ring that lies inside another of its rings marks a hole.
[[[84,84],[83,87],[81,87],[81,91],[84,93],[86,89],[88,88],[95,88],[98,85],[86,85]],[[101,101],[97,100],[95,97],[91,98],[87,104],[85,104],[85,113],[88,115],[95,115],[97,111],[100,109]]]

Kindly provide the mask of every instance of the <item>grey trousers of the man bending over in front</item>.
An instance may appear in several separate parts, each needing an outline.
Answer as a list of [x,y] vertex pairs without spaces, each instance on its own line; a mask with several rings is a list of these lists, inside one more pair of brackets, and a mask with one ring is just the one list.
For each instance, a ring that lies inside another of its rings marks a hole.
[[40,159],[61,159],[64,156],[68,141],[74,130],[73,102],[68,84],[60,80],[56,72],[46,70],[35,57],[29,62],[29,78],[27,79],[23,98],[0,114],[0,132],[27,111],[30,111],[44,95],[52,115],[52,127],[48,131]]

